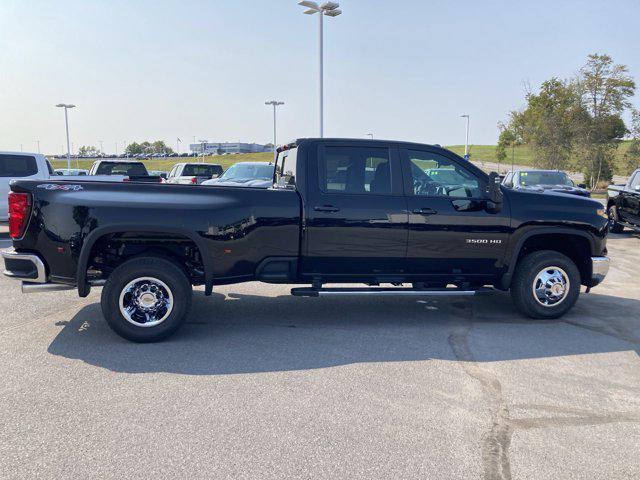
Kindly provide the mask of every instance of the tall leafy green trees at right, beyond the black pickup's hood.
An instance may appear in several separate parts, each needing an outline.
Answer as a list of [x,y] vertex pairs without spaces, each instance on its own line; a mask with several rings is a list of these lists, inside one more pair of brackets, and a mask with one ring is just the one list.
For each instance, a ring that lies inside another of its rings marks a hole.
[[[589,55],[576,78],[553,77],[538,92],[527,92],[526,107],[512,111],[500,124],[496,155],[508,159],[508,150],[528,145],[538,168],[575,168],[595,188],[614,174],[614,157],[627,136],[632,144],[624,156],[628,174],[640,165],[640,113],[632,109],[636,85],[625,65],[608,55]],[[623,120],[631,111],[629,127]]]

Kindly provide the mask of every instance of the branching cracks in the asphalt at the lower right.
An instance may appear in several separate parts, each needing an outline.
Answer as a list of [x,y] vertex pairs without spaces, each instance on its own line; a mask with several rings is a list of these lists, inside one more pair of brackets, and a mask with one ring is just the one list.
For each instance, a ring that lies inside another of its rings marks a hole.
[[[640,414],[626,412],[595,413],[590,410],[535,404],[518,404],[515,408],[527,411],[543,411],[564,416],[540,416],[531,418],[511,418],[509,406],[504,399],[502,384],[498,377],[481,368],[469,347],[469,334],[473,327],[473,302],[471,299],[458,301],[453,305],[453,314],[458,318],[449,335],[449,344],[464,371],[480,383],[490,410],[490,429],[482,437],[482,462],[485,480],[510,480],[511,461],[509,447],[516,429],[534,429],[563,426],[604,425],[610,423],[640,422]],[[571,323],[572,322],[567,322]],[[575,326],[582,327],[577,324]],[[588,328],[588,327],[587,327]],[[596,333],[612,335],[606,330],[588,328]],[[615,329],[614,327],[614,330]],[[626,332],[624,332],[626,333]],[[620,331],[613,335],[621,338]],[[625,338],[626,337],[626,338]],[[628,335],[622,336],[629,341]]]

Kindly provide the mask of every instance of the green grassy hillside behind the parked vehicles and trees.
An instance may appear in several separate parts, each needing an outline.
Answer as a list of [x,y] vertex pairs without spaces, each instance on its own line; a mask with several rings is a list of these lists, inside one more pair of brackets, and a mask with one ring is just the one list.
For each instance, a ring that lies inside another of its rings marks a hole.
[[[624,167],[623,167],[623,156],[631,142],[625,141],[620,144],[618,150],[616,152],[616,159],[614,164],[614,173],[617,175],[625,175]],[[445,148],[448,148],[452,152],[457,153],[460,156],[464,155],[464,145],[450,145]],[[470,145],[469,153],[471,154],[471,160],[474,162],[492,162],[498,163],[496,159],[496,146],[495,145]],[[515,165],[523,165],[527,167],[535,166],[535,157],[533,151],[523,145],[516,147],[514,149],[514,164]],[[508,158],[506,163],[504,164],[503,169],[507,171],[511,165],[511,149],[508,150]],[[216,156],[207,156],[204,157],[204,161],[207,163],[217,163],[222,165],[222,167],[226,170],[231,165],[236,162],[269,162],[273,159],[273,154],[271,152],[262,152],[262,153],[246,153],[246,154],[238,154],[238,155],[216,155]],[[147,170],[162,170],[168,172],[171,170],[171,167],[176,163],[180,162],[200,162],[202,161],[202,157],[175,157],[175,158],[163,158],[163,159],[154,159],[154,160],[143,160],[142,162],[147,167]],[[84,168],[89,169],[93,164],[94,159],[83,159],[83,160],[71,160],[72,168]],[[67,161],[66,160],[53,160],[51,162],[53,168],[66,168]],[[575,159],[572,161],[572,167],[569,170],[578,170],[575,166]]]

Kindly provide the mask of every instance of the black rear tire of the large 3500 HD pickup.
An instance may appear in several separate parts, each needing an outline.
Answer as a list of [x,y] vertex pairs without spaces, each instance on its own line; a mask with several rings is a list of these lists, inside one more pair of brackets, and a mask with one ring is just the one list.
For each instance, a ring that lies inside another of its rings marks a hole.
[[[132,283],[133,286],[127,289]],[[123,293],[123,290],[126,292]],[[121,293],[124,307],[125,304],[132,305],[131,310],[121,309]],[[151,311],[151,319],[155,320],[151,323],[159,322],[153,326],[142,326],[149,322],[150,316],[143,313],[144,309],[137,307],[135,302],[135,298],[140,299],[145,293],[147,296],[144,300],[156,300],[156,304],[149,308],[161,305]],[[102,289],[100,304],[104,318],[118,335],[132,342],[157,342],[182,326],[191,307],[192,293],[189,279],[171,260],[137,257],[127,260],[111,273]],[[171,298],[172,301],[167,301]],[[127,319],[125,311],[133,318]]]

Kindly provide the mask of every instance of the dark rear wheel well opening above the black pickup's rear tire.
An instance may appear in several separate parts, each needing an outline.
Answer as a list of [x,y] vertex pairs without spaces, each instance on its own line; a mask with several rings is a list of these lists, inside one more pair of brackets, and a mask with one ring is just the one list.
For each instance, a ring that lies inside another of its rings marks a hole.
[[184,235],[159,232],[117,232],[98,238],[89,254],[87,276],[106,278],[120,264],[143,255],[172,260],[192,285],[204,283],[205,268],[196,243]]

